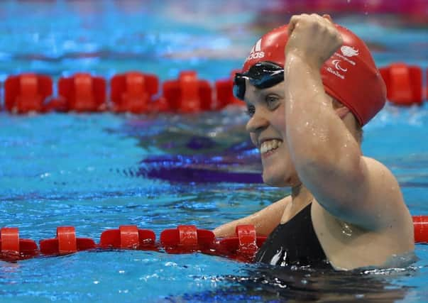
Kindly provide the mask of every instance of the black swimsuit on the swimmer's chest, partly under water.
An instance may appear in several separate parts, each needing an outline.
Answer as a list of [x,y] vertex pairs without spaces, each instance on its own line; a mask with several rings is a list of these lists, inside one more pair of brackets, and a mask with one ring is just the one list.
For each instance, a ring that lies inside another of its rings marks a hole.
[[302,209],[290,221],[279,224],[270,233],[256,254],[256,262],[280,266],[324,267],[328,264],[312,226],[311,205],[312,203]]

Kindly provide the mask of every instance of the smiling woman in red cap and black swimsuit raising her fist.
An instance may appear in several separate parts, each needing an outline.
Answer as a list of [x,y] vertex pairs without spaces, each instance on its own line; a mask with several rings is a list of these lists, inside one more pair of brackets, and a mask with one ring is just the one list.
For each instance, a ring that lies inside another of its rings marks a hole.
[[397,180],[361,154],[361,127],[385,104],[385,84],[361,39],[329,16],[293,16],[263,35],[236,74],[263,181],[291,196],[214,230],[253,224],[269,235],[256,261],[350,270],[414,249]]

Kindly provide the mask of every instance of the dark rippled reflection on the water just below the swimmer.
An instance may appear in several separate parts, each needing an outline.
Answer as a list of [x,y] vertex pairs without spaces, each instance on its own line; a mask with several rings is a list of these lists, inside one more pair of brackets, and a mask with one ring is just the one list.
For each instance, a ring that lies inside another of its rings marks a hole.
[[395,302],[414,287],[399,285],[397,279],[415,275],[415,268],[353,270],[282,268],[257,265],[244,275],[214,277],[230,286],[210,292],[167,297],[165,302]]

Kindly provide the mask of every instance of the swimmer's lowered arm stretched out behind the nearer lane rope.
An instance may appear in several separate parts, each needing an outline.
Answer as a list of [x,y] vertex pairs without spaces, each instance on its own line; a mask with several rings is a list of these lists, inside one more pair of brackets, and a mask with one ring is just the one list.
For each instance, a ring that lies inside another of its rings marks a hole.
[[256,233],[259,236],[267,236],[280,224],[285,204],[289,201],[290,197],[285,197],[250,216],[223,224],[214,229],[214,234],[217,237],[234,236],[236,226],[251,224],[256,228]]

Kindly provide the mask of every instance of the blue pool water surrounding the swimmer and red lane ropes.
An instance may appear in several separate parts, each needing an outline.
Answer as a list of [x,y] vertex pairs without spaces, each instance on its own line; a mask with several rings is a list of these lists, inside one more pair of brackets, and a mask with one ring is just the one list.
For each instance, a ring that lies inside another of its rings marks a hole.
[[[57,79],[84,70],[108,78],[143,70],[171,79],[186,69],[212,81],[227,77],[264,28],[257,22],[260,4],[221,4],[3,1],[1,77],[31,70]],[[427,28],[379,20],[339,19],[373,45],[380,66],[405,60],[426,69]],[[174,168],[166,160],[179,157],[185,169],[197,163],[257,175],[245,121],[241,109],[192,116],[2,112],[0,226],[19,227],[21,238],[39,241],[54,238],[57,226],[72,225],[77,236],[98,242],[102,231],[121,224],[159,236],[179,224],[211,229],[251,214],[287,189],[180,182],[165,170]],[[428,214],[427,128],[427,104],[386,106],[364,132],[364,153],[395,173],[414,215]],[[162,174],[150,177],[154,171]],[[408,268],[363,272],[278,272],[202,254],[146,251],[0,261],[0,302],[424,302],[427,246],[418,245],[416,254],[419,261]]]

